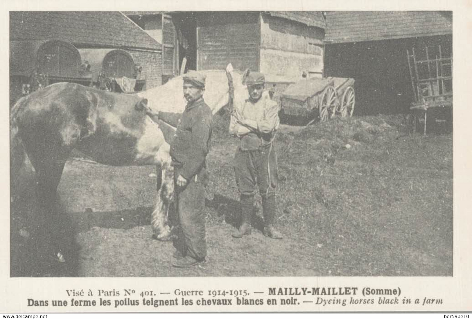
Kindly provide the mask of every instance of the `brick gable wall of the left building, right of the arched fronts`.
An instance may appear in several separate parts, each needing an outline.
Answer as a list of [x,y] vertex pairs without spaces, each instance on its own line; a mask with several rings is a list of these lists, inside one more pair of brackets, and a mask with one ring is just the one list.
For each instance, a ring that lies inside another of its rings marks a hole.
[[146,90],[162,84],[162,56],[160,52],[127,50],[143,69],[138,79],[146,79]]

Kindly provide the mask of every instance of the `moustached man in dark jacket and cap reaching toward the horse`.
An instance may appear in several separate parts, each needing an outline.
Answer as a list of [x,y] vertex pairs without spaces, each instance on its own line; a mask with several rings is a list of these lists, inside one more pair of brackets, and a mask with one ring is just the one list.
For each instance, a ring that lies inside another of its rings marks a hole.
[[[184,75],[184,97],[187,100],[182,116],[159,112],[157,117],[175,125],[177,132],[170,142],[174,167],[179,226],[174,245],[177,251],[172,265],[192,267],[205,261],[205,193],[207,179],[205,158],[211,139],[212,113],[203,100],[205,75],[192,71]],[[155,114],[153,115],[154,119]]]

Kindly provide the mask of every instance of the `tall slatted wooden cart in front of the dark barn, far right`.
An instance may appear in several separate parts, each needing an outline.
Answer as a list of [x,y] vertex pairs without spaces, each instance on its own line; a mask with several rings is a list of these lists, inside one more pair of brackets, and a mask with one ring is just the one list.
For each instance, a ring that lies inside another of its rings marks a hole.
[[406,50],[406,54],[414,92],[414,102],[410,107],[413,131],[416,132],[421,119],[423,134],[426,134],[426,124],[436,122],[438,113],[433,112],[428,119],[428,110],[452,111],[452,51],[441,49],[438,45],[417,50],[413,48],[411,52]]

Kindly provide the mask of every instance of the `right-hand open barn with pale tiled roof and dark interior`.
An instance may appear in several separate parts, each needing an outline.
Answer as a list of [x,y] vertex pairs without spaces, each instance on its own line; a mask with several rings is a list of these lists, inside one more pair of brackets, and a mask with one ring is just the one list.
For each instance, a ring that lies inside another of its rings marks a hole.
[[451,12],[329,11],[326,24],[324,74],[355,79],[356,114],[408,110],[407,50],[452,56]]

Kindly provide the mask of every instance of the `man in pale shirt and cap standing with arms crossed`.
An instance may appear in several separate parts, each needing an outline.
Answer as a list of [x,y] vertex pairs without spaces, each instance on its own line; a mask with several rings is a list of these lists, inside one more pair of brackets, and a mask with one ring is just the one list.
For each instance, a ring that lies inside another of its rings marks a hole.
[[[232,235],[239,238],[251,234],[251,214],[254,194],[259,188],[264,216],[263,234],[281,239],[274,227],[277,187],[277,158],[272,146],[280,120],[278,104],[264,92],[265,77],[251,72],[246,80],[249,99],[234,105],[229,126],[230,133],[239,137],[234,168],[236,184],[241,198],[242,223]],[[265,93],[265,94],[264,94]]]

